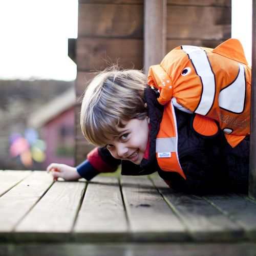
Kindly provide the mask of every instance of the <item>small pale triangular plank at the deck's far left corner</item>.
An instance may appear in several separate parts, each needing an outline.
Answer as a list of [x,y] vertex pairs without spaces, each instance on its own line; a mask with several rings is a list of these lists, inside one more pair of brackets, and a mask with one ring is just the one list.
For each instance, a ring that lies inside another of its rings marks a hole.
[[0,197],[25,179],[31,171],[29,170],[1,170],[0,172]]

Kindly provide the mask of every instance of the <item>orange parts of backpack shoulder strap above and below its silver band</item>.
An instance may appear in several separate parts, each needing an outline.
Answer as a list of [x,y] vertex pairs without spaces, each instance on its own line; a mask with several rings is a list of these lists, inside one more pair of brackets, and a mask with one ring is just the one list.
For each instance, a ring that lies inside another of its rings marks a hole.
[[[163,118],[160,123],[160,130],[157,135],[157,139],[173,137],[177,138],[178,136],[176,134],[175,114],[173,113],[172,103],[169,101],[164,106]],[[162,170],[165,170],[166,172],[177,172],[186,179],[179,164],[177,152],[171,152],[171,156],[169,158],[159,158],[158,153],[156,153],[156,157],[158,165]]]

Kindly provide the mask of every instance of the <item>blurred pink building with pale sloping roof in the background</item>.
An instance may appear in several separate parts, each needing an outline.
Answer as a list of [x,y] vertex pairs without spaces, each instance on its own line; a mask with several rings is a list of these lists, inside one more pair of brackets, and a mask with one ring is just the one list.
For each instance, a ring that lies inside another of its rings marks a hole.
[[40,131],[46,142],[46,160],[74,166],[75,155],[75,91],[70,89],[41,106],[28,119],[28,126]]

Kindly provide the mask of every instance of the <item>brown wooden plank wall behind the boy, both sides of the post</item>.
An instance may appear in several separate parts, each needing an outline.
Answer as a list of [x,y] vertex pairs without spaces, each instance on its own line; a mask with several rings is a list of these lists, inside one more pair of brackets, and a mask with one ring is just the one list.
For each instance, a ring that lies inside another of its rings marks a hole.
[[[80,131],[80,102],[86,84],[95,71],[117,61],[123,68],[143,69],[144,20],[143,0],[78,3],[76,164],[93,147]],[[231,36],[231,0],[167,0],[166,13],[166,53],[179,45],[214,48]]]

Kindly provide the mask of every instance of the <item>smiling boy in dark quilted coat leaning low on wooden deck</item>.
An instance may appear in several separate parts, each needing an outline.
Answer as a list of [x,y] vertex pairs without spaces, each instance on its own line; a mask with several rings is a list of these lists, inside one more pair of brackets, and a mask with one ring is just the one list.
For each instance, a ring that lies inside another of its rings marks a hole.
[[[91,180],[121,164],[122,175],[158,172],[171,188],[187,193],[247,191],[249,136],[235,147],[222,131],[202,136],[191,126],[190,111],[179,104],[167,108],[158,98],[138,70],[100,72],[81,106],[82,132],[98,147],[77,167],[52,163],[47,172],[55,180]],[[165,116],[170,108],[175,126]],[[165,136],[169,130],[173,137]]]

